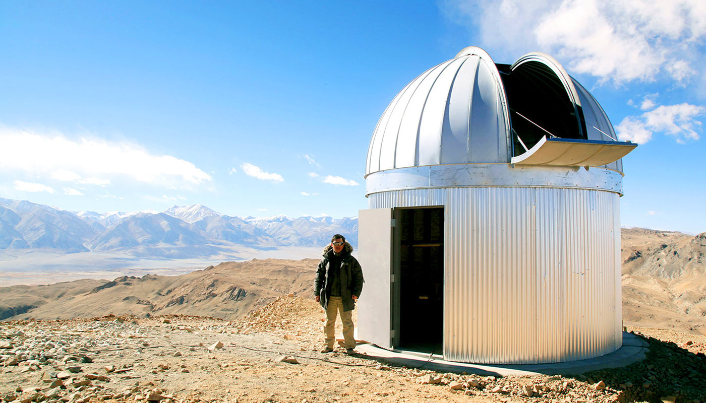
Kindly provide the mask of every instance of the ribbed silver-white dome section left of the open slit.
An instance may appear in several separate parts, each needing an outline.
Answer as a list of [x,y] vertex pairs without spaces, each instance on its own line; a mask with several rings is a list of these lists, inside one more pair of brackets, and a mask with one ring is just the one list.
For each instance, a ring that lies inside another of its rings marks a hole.
[[[366,174],[435,164],[507,162],[505,104],[500,73],[490,56],[477,47],[465,49],[465,54],[430,68],[397,94],[373,133]],[[504,133],[498,136],[498,130]],[[474,131],[477,138],[471,136]],[[490,149],[471,152],[473,147]],[[474,161],[473,155],[480,160]]]

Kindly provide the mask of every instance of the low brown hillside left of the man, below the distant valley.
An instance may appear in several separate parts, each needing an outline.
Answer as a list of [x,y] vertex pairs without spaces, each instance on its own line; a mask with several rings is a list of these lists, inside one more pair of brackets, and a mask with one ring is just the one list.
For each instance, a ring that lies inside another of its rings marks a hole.
[[[221,263],[179,276],[145,275],[119,277],[111,282],[80,280],[48,286],[2,287],[0,296],[7,313],[13,307],[37,306],[13,319],[189,314],[230,320],[282,294],[308,297],[317,263],[314,259],[253,259]],[[72,288],[72,284],[76,287]]]

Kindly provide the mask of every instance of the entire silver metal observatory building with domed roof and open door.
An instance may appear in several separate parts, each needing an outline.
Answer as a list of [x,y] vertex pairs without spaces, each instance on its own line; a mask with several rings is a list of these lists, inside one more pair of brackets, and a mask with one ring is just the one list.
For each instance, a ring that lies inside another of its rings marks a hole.
[[495,64],[467,47],[421,73],[369,146],[359,337],[473,363],[621,347],[618,198],[635,146],[549,55]]

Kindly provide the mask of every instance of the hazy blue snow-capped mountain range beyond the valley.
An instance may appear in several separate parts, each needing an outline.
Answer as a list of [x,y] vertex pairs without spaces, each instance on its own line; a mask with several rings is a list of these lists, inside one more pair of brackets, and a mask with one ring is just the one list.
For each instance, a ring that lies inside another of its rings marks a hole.
[[201,257],[238,246],[318,246],[336,233],[356,245],[358,218],[237,217],[204,205],[174,206],[163,212],[102,214],[0,198],[0,251],[9,255],[42,251]]

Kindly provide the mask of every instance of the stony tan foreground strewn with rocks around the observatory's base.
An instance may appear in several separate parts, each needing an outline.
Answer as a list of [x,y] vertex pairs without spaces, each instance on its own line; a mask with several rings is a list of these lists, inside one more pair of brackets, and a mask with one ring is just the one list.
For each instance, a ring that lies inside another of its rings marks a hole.
[[323,312],[282,296],[228,322],[165,315],[0,323],[15,403],[706,402],[706,336],[630,328],[647,359],[577,378],[493,378],[321,354]]

